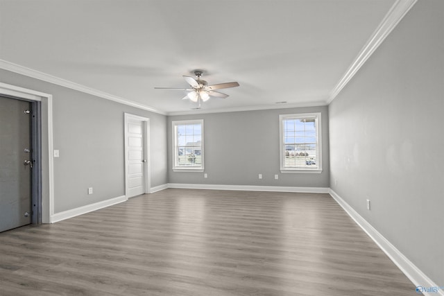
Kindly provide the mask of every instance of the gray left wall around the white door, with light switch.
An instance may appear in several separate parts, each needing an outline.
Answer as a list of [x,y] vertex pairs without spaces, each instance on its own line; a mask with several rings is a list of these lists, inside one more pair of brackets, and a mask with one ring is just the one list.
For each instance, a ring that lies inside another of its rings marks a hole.
[[0,80],[53,95],[55,214],[125,195],[124,112],[150,119],[151,186],[167,183],[167,116],[10,71],[0,70]]

